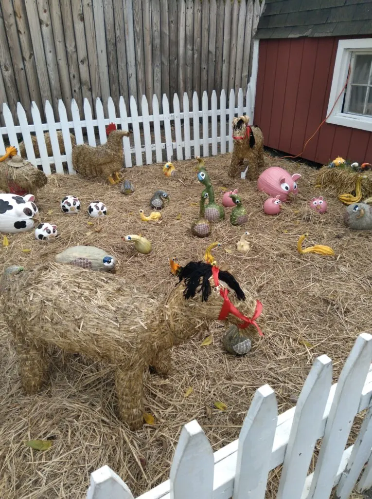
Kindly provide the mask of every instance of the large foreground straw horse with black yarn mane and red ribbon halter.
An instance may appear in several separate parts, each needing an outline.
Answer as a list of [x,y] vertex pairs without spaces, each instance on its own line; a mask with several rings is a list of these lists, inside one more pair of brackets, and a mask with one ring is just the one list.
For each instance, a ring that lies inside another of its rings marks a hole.
[[[249,318],[256,300],[222,270],[220,285],[247,323],[229,314],[228,324],[256,324]],[[24,390],[41,389],[48,369],[47,346],[82,353],[115,366],[119,413],[132,430],[143,423],[143,373],[152,366],[165,375],[171,348],[188,341],[203,326],[218,320],[223,298],[211,278],[212,266],[189,262],[168,295],[150,295],[135,283],[106,272],[45,263],[33,270],[8,267],[0,283],[0,308],[14,335]],[[256,314],[257,316],[257,314]]]

